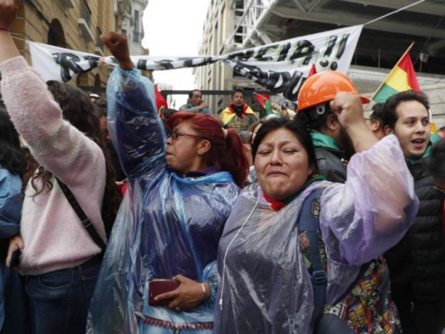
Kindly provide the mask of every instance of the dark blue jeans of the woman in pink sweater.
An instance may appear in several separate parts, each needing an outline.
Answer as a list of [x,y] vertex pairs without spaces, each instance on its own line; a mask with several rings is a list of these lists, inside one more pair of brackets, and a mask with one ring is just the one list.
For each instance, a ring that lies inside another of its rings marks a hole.
[[85,334],[101,261],[27,277],[33,334]]

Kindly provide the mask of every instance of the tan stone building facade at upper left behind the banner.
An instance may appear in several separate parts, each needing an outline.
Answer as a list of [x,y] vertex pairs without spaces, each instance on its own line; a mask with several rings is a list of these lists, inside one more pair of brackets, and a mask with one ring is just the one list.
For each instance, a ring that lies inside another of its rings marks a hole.
[[[20,53],[30,64],[31,55],[24,40],[107,56],[110,53],[104,48],[99,36],[110,31],[121,31],[132,2],[143,5],[143,2],[148,1],[24,0],[20,4],[17,19],[10,27],[11,35],[15,37]],[[133,30],[131,33],[134,34]],[[133,47],[132,42],[129,45]],[[106,87],[108,74],[109,68],[100,66],[79,75],[70,84],[89,87],[85,89],[91,92],[96,88],[97,93],[100,93]]]

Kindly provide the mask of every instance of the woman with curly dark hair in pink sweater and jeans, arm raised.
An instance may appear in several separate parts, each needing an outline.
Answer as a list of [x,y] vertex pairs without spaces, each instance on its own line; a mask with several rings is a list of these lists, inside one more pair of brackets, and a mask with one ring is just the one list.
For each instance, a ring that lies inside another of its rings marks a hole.
[[[119,192],[89,97],[62,83],[47,87],[15,47],[7,27],[18,3],[0,0],[1,94],[39,168],[28,183],[20,236],[10,239],[6,262],[21,249],[18,269],[27,276],[33,333],[81,334],[102,260],[99,244],[104,247]],[[62,183],[99,240],[83,226]]]

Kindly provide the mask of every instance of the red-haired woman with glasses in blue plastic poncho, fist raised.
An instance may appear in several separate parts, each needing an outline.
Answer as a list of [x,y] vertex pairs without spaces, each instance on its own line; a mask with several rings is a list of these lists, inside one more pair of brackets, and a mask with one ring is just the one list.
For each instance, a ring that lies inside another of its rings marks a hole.
[[133,68],[126,38],[103,41],[119,63],[107,85],[108,129],[128,189],[88,333],[213,333],[218,242],[247,178],[243,142],[189,112],[169,117],[166,138],[153,85]]

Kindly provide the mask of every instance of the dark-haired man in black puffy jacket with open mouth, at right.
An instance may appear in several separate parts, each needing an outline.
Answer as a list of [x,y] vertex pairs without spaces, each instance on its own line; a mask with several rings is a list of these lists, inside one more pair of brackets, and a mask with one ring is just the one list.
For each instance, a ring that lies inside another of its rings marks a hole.
[[383,111],[385,133],[396,135],[420,200],[414,224],[385,253],[405,334],[441,333],[445,318],[444,193],[426,168],[433,139],[428,108],[425,94],[406,91],[391,96]]

